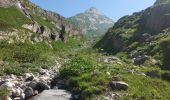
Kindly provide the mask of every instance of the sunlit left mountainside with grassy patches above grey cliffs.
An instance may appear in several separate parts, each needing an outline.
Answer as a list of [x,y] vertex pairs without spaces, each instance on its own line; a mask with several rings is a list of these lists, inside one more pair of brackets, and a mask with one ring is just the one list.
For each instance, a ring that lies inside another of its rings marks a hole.
[[1,40],[40,42],[80,36],[81,30],[64,17],[41,9],[29,0],[0,0],[0,7]]

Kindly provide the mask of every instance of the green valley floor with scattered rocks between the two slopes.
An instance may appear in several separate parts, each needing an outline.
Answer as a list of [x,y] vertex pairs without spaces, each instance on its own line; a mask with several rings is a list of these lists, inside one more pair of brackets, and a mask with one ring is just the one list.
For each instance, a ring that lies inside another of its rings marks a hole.
[[[33,88],[34,92],[37,89],[49,89],[49,86],[55,84],[59,89],[70,91],[73,98],[79,100],[170,99],[170,83],[161,79],[161,73],[164,71],[158,67],[135,66],[125,53],[116,55],[99,53],[98,50],[89,47],[89,43],[82,45],[80,42],[71,41],[69,44],[52,43],[53,48],[49,49],[47,49],[49,44],[46,43],[36,45],[5,45],[1,43],[0,71],[2,76],[6,76],[6,80],[3,80],[4,77],[0,79],[2,89],[0,95],[9,93],[3,87],[17,89],[17,83],[14,83],[14,87],[10,87],[8,83],[11,82],[12,76],[14,76],[14,80],[15,77],[19,79],[18,77],[21,76],[24,81],[28,79],[23,82],[26,87],[30,87],[34,80],[43,83],[40,87]],[[4,51],[8,51],[8,53]],[[54,67],[56,67],[54,69],[56,73],[51,74],[50,70]],[[47,73],[44,71],[47,71]],[[52,75],[54,76],[52,77]],[[41,76],[43,76],[43,79],[41,79]],[[48,83],[51,79],[51,83]],[[28,92],[25,92],[26,90],[23,87],[20,88],[25,96],[28,96]],[[13,92],[17,93],[16,91]],[[38,90],[39,92],[42,91]],[[21,97],[21,94],[14,95],[14,93],[11,96],[12,98]],[[30,96],[33,95],[36,94],[30,94]]]

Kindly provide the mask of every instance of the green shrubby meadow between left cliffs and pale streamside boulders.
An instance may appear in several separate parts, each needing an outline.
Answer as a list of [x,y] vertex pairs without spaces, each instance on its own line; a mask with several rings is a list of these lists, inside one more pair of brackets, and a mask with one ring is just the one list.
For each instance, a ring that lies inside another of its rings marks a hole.
[[[13,43],[6,41],[0,43],[0,68],[1,75],[16,74],[21,75],[26,72],[37,71],[40,66],[49,68],[54,64],[56,56],[64,57],[72,50],[80,46],[80,42],[70,39],[70,42],[52,42],[52,47],[46,42]],[[62,47],[62,48],[60,48]]]

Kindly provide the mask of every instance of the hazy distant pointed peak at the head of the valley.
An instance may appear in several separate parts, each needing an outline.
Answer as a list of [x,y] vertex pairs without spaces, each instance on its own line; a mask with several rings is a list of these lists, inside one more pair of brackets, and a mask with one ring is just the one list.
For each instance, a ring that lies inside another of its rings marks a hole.
[[68,21],[83,29],[83,33],[91,37],[103,35],[108,28],[114,25],[110,18],[94,7],[68,18]]

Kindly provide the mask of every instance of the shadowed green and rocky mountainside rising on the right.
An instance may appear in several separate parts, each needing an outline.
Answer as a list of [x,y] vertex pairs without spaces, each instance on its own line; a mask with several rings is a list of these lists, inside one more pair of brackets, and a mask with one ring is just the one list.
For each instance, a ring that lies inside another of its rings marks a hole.
[[140,64],[154,59],[157,66],[170,69],[169,14],[169,0],[157,0],[153,6],[118,20],[96,46],[112,53],[135,54]]

